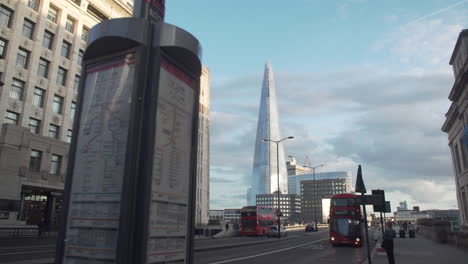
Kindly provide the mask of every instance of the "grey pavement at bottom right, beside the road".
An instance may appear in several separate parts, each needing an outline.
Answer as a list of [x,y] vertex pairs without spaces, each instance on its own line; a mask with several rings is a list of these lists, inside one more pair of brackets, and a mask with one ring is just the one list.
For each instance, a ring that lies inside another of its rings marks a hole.
[[[395,238],[395,263],[397,264],[458,264],[467,263],[468,249],[439,244],[421,235],[416,238]],[[379,241],[377,245],[380,247]],[[387,264],[387,255],[372,254],[373,264]]]

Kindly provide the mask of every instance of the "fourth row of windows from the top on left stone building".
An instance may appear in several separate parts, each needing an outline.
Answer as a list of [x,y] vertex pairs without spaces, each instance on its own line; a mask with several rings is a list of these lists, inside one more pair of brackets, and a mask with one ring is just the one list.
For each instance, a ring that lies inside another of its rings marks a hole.
[[[24,98],[24,90],[25,90],[25,82],[13,78],[10,90],[10,97],[16,100],[22,101]],[[34,94],[32,99],[32,104],[39,108],[44,107],[44,98],[45,98],[45,90],[39,87],[34,87]],[[64,105],[64,98],[59,95],[54,95],[54,99],[52,101],[52,111],[56,114],[63,114],[63,105]],[[71,103],[71,110],[70,110],[70,118],[73,120],[75,117],[75,110],[76,110],[76,103]]]

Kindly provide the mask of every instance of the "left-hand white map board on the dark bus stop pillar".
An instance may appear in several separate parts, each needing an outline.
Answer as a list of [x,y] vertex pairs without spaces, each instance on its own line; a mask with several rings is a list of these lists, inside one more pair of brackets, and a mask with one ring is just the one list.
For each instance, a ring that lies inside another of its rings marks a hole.
[[63,263],[115,263],[134,54],[86,70]]

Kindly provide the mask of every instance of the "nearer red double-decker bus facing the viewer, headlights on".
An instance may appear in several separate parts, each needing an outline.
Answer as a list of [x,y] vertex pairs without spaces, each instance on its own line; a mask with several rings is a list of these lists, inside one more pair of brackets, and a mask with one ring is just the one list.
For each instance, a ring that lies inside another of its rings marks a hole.
[[330,243],[362,246],[361,207],[358,196],[335,194],[330,200]]

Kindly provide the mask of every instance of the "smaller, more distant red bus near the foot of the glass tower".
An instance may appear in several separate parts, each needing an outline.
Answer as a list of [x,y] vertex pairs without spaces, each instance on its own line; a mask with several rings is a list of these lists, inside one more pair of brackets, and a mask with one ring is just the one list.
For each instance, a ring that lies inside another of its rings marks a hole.
[[242,236],[264,236],[270,226],[277,224],[276,209],[266,206],[244,206],[241,209]]

